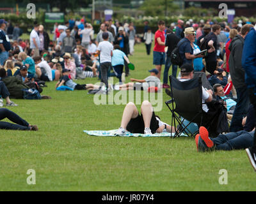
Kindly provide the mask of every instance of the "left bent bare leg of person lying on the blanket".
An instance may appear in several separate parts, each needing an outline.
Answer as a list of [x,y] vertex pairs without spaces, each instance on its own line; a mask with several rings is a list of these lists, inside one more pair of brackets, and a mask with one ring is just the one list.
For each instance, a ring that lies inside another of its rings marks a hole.
[[127,105],[124,108],[124,113],[123,113],[120,128],[126,129],[129,121],[131,119],[135,119],[136,117],[138,117],[138,115],[139,115],[139,112],[138,112],[136,106],[134,105],[134,103],[132,103],[132,102],[127,103]]

